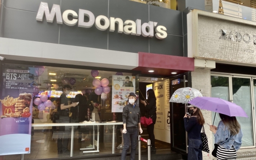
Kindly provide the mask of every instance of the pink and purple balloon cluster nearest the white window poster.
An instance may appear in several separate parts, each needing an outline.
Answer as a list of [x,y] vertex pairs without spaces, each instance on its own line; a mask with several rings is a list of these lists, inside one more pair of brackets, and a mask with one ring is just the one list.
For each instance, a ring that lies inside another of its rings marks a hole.
[[94,80],[92,81],[92,85],[96,87],[95,89],[95,94],[96,95],[101,95],[102,93],[109,93],[110,88],[109,88],[109,80],[107,78],[103,78],[102,80],[96,79],[99,75],[99,70],[91,70],[91,76],[94,77]]

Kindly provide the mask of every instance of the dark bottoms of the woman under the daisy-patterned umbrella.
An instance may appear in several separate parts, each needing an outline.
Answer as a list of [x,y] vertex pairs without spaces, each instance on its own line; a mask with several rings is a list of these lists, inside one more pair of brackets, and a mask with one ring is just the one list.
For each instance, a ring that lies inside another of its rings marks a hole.
[[203,160],[203,144],[201,140],[188,139],[187,160]]

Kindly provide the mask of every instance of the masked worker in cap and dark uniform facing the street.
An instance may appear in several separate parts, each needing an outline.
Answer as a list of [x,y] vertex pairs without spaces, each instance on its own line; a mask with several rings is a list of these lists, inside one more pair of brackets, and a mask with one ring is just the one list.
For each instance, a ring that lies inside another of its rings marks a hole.
[[135,152],[137,146],[137,136],[139,128],[140,133],[141,129],[141,111],[139,106],[136,106],[135,102],[137,97],[134,93],[130,93],[128,96],[128,102],[123,108],[123,140],[124,146],[122,150],[122,160],[125,160],[127,151],[129,149],[129,142],[131,141],[131,160],[135,160]]

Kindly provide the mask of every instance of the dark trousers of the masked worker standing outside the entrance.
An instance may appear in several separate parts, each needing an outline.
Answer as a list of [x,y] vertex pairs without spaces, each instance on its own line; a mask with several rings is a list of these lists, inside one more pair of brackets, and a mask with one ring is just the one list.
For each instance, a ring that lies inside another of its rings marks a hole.
[[124,146],[122,149],[122,160],[125,160],[127,151],[130,146],[130,140],[131,140],[131,160],[135,160],[135,153],[136,153],[136,146],[137,146],[137,129],[134,130],[127,130],[126,134],[123,134],[123,141]]

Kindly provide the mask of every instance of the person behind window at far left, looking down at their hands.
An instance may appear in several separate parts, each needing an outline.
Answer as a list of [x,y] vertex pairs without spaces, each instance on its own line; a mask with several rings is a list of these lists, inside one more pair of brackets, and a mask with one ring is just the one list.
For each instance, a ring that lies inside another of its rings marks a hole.
[[[76,102],[71,103],[71,99],[67,96],[70,94],[71,87],[70,85],[64,85],[63,86],[63,93],[60,95],[60,109],[65,110],[69,109],[70,107],[76,107],[78,104]],[[69,123],[70,118],[68,114],[62,115],[59,117],[59,120],[56,120],[57,123]],[[70,128],[71,126],[61,126],[59,128],[58,133],[58,154],[62,153],[68,153],[68,144],[69,144],[69,138],[70,138]]]

